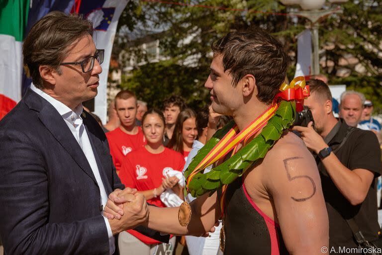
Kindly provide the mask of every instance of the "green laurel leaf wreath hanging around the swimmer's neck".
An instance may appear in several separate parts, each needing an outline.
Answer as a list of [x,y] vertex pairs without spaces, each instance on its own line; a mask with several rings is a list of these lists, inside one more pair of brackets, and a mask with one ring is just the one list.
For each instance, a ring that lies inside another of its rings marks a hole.
[[[264,158],[275,142],[280,139],[284,130],[288,129],[292,125],[295,118],[295,110],[296,104],[294,100],[282,100],[279,108],[275,112],[275,115],[268,121],[261,133],[251,142],[249,142],[245,147],[224,163],[212,168],[209,172],[196,173],[188,183],[189,193],[193,197],[198,197],[206,192],[215,191],[223,184],[233,182],[259,159]],[[235,122],[232,120],[222,129],[218,130],[198,151],[195,158],[191,161],[190,166],[185,170],[186,179],[234,125]],[[187,195],[186,188],[185,195]]]

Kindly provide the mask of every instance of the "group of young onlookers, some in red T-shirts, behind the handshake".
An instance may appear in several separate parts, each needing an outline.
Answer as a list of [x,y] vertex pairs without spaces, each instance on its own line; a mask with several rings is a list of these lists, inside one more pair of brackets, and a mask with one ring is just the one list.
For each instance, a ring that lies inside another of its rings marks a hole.
[[[183,171],[207,139],[232,118],[215,113],[208,105],[197,111],[188,108],[180,95],[169,96],[162,109],[148,106],[132,91],[116,94],[108,108],[109,121],[102,125],[110,154],[126,187],[142,192],[158,207],[179,206],[185,199]],[[190,202],[193,199],[188,197]],[[217,254],[219,234],[188,237],[190,255]],[[162,244],[135,230],[120,233],[118,244],[121,255],[171,255],[176,246],[175,237]]]

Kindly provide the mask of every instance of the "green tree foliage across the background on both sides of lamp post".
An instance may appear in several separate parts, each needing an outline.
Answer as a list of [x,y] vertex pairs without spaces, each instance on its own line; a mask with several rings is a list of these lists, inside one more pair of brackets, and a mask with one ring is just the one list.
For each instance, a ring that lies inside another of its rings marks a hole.
[[[211,43],[230,30],[251,26],[266,29],[284,43],[291,60],[288,78],[293,78],[296,35],[308,24],[304,18],[285,15],[296,10],[296,6],[288,7],[276,0],[176,3],[130,1],[130,6],[123,11],[118,24],[119,38],[114,43],[119,45],[116,49],[144,55],[134,44],[139,43],[136,40],[139,31],[160,40],[161,54],[166,61],[136,66],[122,87],[137,89],[137,94],[156,106],[168,93],[182,93],[191,105],[201,106],[208,97],[208,91],[203,92],[202,86],[209,73]],[[357,0],[341,6],[343,14],[332,15],[320,23],[321,73],[328,76],[330,84],[345,84],[364,92],[374,101],[376,109],[382,111],[379,101],[382,95],[382,2]],[[197,56],[191,65],[194,67],[185,65],[190,56]],[[350,57],[358,59],[358,63],[347,64]],[[344,71],[347,75],[339,76]]]

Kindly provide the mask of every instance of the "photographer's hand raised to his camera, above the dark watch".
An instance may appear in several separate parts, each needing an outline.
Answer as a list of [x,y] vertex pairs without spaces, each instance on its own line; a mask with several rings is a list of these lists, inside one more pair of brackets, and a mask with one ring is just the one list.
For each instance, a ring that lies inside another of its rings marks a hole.
[[312,121],[309,122],[307,127],[294,126],[292,130],[300,132],[301,139],[304,141],[306,147],[316,154],[318,154],[322,149],[328,147],[324,139],[313,129]]

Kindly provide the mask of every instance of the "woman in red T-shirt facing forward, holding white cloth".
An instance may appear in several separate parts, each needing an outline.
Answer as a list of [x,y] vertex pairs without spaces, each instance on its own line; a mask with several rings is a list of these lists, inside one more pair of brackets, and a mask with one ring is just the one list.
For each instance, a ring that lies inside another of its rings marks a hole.
[[[119,171],[119,177],[126,187],[136,188],[143,193],[150,204],[166,207],[160,200],[160,194],[172,189],[182,200],[183,187],[179,178],[167,173],[182,172],[185,160],[182,154],[163,146],[165,117],[159,110],[147,111],[142,117],[142,131],[147,144],[130,152]],[[120,255],[171,255],[175,246],[175,237],[169,244],[162,244],[135,230],[122,232],[118,237]]]

